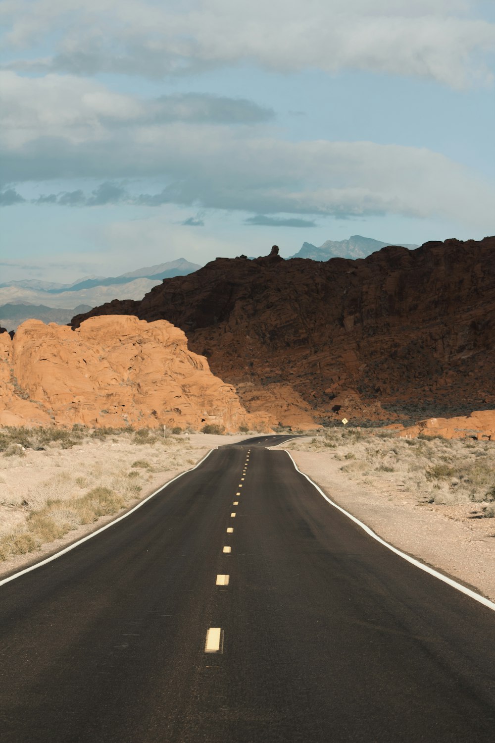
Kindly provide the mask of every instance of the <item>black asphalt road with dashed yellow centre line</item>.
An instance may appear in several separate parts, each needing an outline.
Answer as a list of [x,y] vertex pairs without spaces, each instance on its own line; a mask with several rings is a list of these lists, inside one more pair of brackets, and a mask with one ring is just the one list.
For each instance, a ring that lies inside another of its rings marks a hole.
[[2,743],[493,743],[495,612],[266,438],[0,586]]

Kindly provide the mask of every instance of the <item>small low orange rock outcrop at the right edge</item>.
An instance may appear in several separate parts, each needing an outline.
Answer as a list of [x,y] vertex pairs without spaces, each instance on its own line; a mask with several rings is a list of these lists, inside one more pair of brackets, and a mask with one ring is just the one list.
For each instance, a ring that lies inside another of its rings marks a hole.
[[476,438],[495,441],[495,410],[476,410],[471,415],[456,418],[427,418],[416,426],[398,432],[403,438],[416,438],[420,433],[443,438]]

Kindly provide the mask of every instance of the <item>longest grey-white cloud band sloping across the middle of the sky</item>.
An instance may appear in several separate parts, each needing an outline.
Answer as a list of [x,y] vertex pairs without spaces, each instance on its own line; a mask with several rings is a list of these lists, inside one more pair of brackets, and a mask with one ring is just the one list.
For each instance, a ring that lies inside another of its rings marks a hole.
[[[43,195],[39,203],[182,204],[340,218],[396,214],[491,228],[493,186],[425,148],[281,140],[261,123],[151,123],[142,119],[137,98],[113,101],[109,94],[107,101],[104,86],[79,78],[26,82],[0,73],[0,88],[2,94],[7,88],[9,103],[1,108],[9,111],[1,122],[6,186],[75,174],[101,181],[91,194],[76,189]],[[137,185],[150,180],[165,186],[156,192]]]

